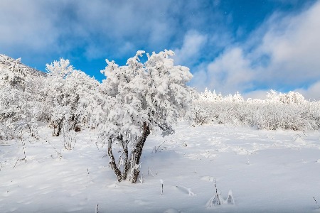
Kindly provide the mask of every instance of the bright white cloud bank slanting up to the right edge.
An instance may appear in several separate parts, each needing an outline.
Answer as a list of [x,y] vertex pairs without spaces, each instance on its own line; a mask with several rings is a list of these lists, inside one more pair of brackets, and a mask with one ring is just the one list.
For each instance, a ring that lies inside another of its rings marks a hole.
[[[261,87],[294,90],[320,81],[319,14],[320,1],[299,14],[274,13],[246,43],[229,47],[195,72],[195,78],[206,74],[208,87],[223,94],[248,94]],[[193,86],[201,88],[203,82],[193,81]],[[306,92],[320,98],[314,88],[318,84]]]

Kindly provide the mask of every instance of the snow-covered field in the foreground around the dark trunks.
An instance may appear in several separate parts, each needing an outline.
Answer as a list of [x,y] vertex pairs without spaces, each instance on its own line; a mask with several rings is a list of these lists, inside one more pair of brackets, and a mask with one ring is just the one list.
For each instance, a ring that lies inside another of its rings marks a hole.
[[[116,182],[93,131],[78,133],[70,151],[63,136],[39,132],[25,145],[0,142],[0,212],[320,212],[318,131],[180,123],[172,136],[147,138],[134,185]],[[214,182],[235,204],[208,207]]]

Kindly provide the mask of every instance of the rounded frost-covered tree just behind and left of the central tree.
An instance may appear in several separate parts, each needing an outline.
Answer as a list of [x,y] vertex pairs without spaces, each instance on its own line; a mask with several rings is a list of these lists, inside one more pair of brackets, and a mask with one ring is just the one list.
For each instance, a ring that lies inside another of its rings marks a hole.
[[59,136],[63,127],[77,130],[87,123],[98,82],[84,72],[74,70],[69,60],[60,59],[46,65],[48,76],[43,83],[43,117],[50,121],[53,135]]

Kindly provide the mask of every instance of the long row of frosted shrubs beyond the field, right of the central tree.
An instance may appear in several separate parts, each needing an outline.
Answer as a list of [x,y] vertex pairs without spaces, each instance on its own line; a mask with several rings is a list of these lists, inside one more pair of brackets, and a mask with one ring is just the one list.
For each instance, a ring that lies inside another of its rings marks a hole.
[[308,102],[297,92],[272,90],[266,100],[247,99],[237,92],[222,97],[206,89],[193,99],[196,124],[256,126],[258,129],[308,130],[320,128],[320,102]]

